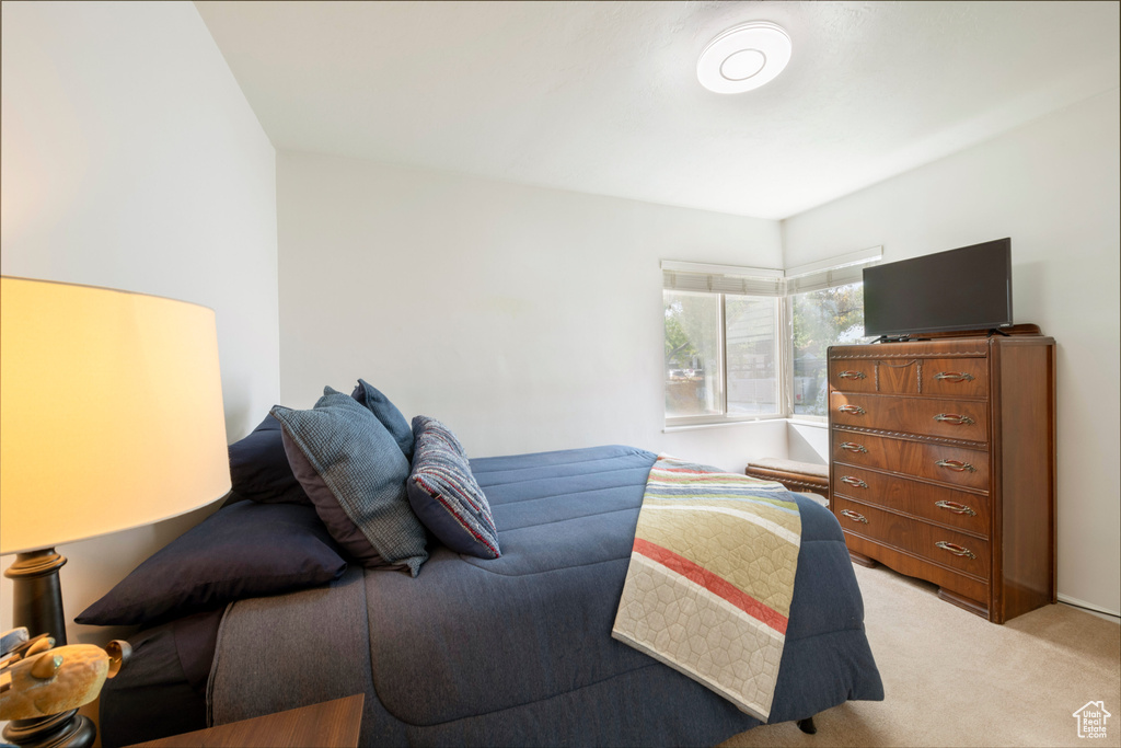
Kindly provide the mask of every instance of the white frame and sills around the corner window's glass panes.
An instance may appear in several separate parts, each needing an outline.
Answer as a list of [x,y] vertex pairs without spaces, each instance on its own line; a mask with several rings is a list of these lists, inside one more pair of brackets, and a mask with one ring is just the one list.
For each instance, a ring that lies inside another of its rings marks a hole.
[[[671,431],[677,428],[778,419],[797,419],[815,424],[825,423],[827,416],[796,414],[794,412],[794,296],[855,283],[853,279],[854,274],[861,273],[864,267],[878,264],[882,257],[883,248],[872,247],[785,270],[663,260],[663,308],[665,308],[665,292],[712,294],[719,298],[717,342],[720,357],[720,401],[722,410],[720,414],[669,416],[665,410],[666,380],[664,379],[661,389],[665,430]],[[677,274],[687,276],[685,280],[688,287],[676,287]],[[736,284],[740,284],[738,290],[735,289]],[[771,286],[773,286],[773,292],[770,290]],[[757,289],[760,293],[748,293],[749,288]],[[779,406],[778,410],[773,414],[729,414],[728,316],[725,311],[729,295],[773,299],[776,306],[773,327],[775,367],[777,370],[776,395],[777,405]],[[663,321],[663,342],[665,343],[665,321]]]

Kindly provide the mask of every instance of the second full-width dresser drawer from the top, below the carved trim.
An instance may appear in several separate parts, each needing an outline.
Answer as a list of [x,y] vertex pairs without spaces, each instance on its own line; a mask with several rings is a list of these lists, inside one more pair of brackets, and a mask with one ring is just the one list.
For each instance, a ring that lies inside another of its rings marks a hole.
[[[989,490],[989,453],[984,450],[912,442],[842,428],[834,428],[830,440],[834,463]],[[839,464],[834,465],[834,472]]]

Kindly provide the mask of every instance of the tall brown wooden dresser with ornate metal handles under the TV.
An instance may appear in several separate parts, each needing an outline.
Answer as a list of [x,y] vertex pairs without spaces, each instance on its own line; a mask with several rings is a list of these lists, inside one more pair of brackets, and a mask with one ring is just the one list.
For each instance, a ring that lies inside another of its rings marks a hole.
[[828,352],[830,496],[853,561],[997,624],[1056,600],[1055,341],[1025,327]]

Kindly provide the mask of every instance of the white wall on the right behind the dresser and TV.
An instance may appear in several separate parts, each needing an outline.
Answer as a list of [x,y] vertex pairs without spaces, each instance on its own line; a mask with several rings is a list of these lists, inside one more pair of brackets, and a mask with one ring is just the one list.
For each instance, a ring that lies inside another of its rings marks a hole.
[[788,265],[1011,237],[1017,322],[1058,350],[1058,590],[1121,610],[1117,91],[784,222]]

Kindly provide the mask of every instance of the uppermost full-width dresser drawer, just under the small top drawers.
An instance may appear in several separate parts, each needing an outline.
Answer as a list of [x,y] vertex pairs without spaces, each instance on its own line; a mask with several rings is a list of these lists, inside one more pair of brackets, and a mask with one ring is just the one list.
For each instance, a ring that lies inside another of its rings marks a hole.
[[984,442],[989,437],[989,417],[983,400],[830,393],[830,417],[837,426],[971,442]]

